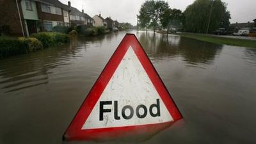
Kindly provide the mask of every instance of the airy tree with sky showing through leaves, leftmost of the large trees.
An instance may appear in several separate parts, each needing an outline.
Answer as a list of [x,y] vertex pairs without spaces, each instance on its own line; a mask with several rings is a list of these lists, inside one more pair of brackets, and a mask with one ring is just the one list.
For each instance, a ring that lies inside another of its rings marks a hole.
[[164,13],[164,10],[169,8],[169,4],[164,1],[145,1],[141,5],[140,14],[138,19],[140,22],[141,28],[152,28],[154,32],[157,28],[161,27],[161,16]]

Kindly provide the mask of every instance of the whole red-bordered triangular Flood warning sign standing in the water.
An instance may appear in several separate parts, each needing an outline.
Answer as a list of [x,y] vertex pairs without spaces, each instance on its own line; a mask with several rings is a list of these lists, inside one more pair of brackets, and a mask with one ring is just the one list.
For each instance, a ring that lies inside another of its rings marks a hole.
[[97,140],[155,131],[182,118],[135,35],[127,34],[63,135]]

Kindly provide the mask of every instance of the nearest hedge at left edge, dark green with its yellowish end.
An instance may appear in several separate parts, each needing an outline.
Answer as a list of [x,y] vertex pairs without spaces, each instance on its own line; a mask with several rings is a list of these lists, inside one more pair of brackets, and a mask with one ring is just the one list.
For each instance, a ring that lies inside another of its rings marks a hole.
[[42,48],[42,43],[36,38],[0,37],[0,58],[24,54]]

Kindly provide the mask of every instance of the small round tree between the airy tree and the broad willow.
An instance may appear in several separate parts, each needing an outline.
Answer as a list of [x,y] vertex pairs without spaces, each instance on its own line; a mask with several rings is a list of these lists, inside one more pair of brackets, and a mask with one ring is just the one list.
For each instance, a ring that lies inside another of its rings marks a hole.
[[167,29],[167,35],[171,28],[180,28],[183,14],[180,10],[168,8],[161,16],[161,25]]

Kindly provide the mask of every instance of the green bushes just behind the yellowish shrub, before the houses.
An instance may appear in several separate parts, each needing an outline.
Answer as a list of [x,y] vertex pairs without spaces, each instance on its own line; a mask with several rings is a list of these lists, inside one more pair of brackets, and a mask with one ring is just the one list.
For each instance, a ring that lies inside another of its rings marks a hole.
[[70,42],[70,38],[67,34],[56,32],[42,32],[32,34],[31,37],[40,40],[44,47],[50,47],[56,44],[64,44]]

